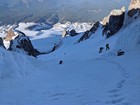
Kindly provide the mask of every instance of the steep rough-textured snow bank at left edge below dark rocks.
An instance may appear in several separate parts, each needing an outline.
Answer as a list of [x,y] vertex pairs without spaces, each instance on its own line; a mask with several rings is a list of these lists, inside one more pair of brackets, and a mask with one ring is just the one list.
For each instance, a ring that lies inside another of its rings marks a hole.
[[6,51],[0,47],[0,79],[20,78],[36,70],[29,61],[28,56],[20,53]]

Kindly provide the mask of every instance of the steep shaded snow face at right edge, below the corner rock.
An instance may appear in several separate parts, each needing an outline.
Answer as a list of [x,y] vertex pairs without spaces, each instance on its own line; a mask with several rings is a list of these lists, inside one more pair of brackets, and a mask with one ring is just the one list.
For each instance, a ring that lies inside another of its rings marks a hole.
[[132,48],[140,45],[140,18],[125,26],[118,34],[118,48]]

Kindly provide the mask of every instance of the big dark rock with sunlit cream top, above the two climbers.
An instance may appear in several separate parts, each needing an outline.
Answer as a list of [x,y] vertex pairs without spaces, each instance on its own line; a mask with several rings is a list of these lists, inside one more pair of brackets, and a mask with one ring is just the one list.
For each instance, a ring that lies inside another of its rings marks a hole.
[[106,35],[107,38],[117,33],[123,26],[125,18],[125,8],[121,10],[113,10],[108,17],[103,19],[103,35]]

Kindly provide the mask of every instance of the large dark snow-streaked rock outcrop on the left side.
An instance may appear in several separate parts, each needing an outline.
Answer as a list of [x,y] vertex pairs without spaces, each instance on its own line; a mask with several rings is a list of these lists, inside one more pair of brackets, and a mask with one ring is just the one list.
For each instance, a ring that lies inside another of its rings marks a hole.
[[27,55],[36,57],[39,52],[33,47],[30,39],[20,31],[16,31],[16,33],[18,35],[10,41],[9,50],[22,52]]

